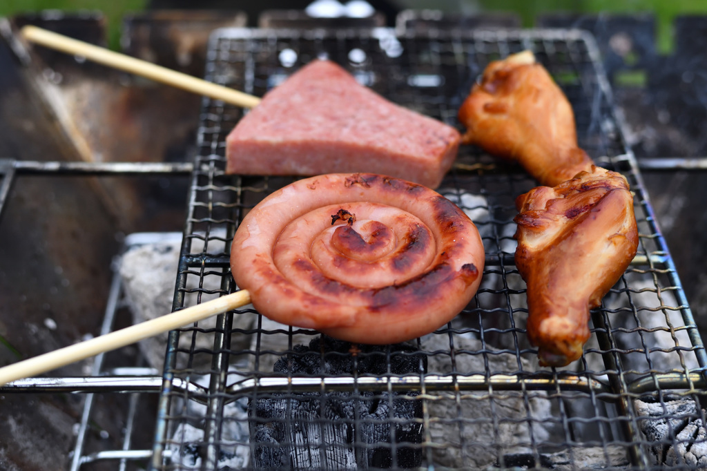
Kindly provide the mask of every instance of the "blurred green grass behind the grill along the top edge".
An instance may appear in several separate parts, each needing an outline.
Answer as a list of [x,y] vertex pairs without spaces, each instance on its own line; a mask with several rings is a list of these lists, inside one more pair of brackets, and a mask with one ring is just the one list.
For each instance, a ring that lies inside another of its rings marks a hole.
[[[223,2],[222,2],[223,3]],[[238,9],[241,2],[233,1],[230,8]],[[435,8],[448,13],[478,11],[513,11],[531,27],[540,13],[643,13],[655,14],[658,50],[666,53],[672,47],[672,21],[677,15],[707,13],[707,0],[392,0],[398,8]],[[141,11],[148,0],[1,0],[0,16],[12,16],[46,9],[62,11],[98,10],[107,20],[109,42],[116,48],[125,13]],[[196,6],[197,4],[194,4]]]

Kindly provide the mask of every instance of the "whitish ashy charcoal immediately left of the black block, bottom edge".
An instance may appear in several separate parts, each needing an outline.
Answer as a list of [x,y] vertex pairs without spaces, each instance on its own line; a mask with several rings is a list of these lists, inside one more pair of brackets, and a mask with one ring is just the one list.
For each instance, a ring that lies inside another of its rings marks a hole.
[[[234,378],[233,371],[229,371],[228,379]],[[235,374],[235,380],[240,376]],[[210,376],[198,376],[194,383],[209,387]],[[241,378],[242,379],[242,378]],[[175,397],[175,401],[179,401]],[[218,469],[243,469],[250,462],[250,431],[248,429],[248,402],[246,397],[228,402],[223,406],[223,421],[221,421],[221,436],[218,442]],[[177,425],[172,440],[169,443],[170,460],[173,465],[181,466],[179,469],[201,469],[202,458],[206,453],[204,442],[204,417],[206,405],[189,400],[186,403],[175,402],[173,414],[181,411],[183,417],[190,421]]]

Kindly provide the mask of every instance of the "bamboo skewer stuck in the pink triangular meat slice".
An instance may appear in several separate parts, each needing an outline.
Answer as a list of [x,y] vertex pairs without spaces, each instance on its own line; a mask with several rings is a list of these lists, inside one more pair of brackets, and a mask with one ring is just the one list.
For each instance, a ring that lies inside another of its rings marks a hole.
[[107,50],[104,47],[98,47],[79,40],[52,33],[36,26],[28,25],[21,29],[21,35],[30,42],[50,47],[54,50],[74,54],[76,56],[86,57],[86,59],[98,62],[105,66],[110,66],[115,69],[130,72],[138,76],[146,77],[157,82],[166,83],[177,88],[182,88],[199,95],[223,100],[226,103],[237,105],[246,108],[252,108],[260,103],[260,98],[253,95],[248,95],[233,88],[217,85],[206,80],[197,79],[196,77],[182,74],[163,66],[151,64],[150,62],[125,54],[119,54]]

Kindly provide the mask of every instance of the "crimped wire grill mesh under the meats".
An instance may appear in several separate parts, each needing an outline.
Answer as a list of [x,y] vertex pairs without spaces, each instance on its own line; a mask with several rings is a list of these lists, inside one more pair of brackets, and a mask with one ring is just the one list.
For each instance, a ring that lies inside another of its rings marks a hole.
[[[328,57],[393,102],[460,127],[457,109],[486,64],[525,49],[571,101],[580,146],[624,173],[635,193],[638,255],[592,313],[582,359],[539,368],[527,342],[513,202],[537,184],[462,146],[438,191],[484,240],[484,281],[472,303],[431,335],[384,347],[279,325],[252,308],[172,332],[154,468],[696,469],[707,460],[703,344],[591,37],[230,29],[212,37],[206,75],[263,95]],[[204,100],[175,309],[235,289],[228,260],[238,221],[292,181],[223,174],[226,134],[241,115]],[[203,388],[175,388],[174,378]]]

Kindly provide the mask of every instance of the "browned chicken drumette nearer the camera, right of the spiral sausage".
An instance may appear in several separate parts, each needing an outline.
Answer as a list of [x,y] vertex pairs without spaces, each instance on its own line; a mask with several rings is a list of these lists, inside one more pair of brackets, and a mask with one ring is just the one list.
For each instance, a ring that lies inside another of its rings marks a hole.
[[578,359],[590,308],[636,255],[633,197],[623,175],[594,167],[515,201],[515,264],[527,284],[527,334],[542,366]]

